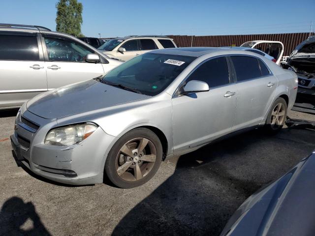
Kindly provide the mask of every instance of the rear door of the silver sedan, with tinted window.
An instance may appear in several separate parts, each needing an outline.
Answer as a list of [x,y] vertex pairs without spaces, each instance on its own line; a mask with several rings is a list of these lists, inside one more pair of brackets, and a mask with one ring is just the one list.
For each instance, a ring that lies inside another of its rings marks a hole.
[[233,130],[259,124],[272,103],[278,79],[259,58],[231,56],[236,74],[237,109]]

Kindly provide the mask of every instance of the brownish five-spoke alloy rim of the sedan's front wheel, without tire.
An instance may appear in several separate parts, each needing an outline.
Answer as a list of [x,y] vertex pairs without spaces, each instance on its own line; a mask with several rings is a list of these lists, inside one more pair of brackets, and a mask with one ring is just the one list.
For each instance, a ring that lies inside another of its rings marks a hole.
[[120,148],[116,156],[116,172],[126,181],[147,176],[155,165],[157,148],[149,139],[135,138]]

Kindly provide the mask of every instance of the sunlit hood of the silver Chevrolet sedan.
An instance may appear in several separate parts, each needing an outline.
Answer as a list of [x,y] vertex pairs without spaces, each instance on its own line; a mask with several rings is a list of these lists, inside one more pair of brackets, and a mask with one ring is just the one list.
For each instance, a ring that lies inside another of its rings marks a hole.
[[42,118],[61,118],[94,111],[149,96],[88,80],[39,94],[27,102],[27,110]]

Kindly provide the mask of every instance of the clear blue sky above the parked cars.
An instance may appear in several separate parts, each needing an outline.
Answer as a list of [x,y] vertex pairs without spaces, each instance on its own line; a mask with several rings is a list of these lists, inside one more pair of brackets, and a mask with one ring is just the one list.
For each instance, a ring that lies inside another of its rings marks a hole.
[[[315,0],[78,0],[89,37],[227,35],[315,30]],[[2,3],[1,3],[2,2]],[[58,0],[0,0],[0,23],[56,30]]]

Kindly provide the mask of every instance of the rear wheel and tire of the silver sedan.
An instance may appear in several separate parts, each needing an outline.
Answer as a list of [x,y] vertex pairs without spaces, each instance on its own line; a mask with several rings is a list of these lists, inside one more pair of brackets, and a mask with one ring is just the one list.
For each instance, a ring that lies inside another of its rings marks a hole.
[[265,131],[268,134],[278,133],[284,126],[286,113],[286,102],[282,97],[278,97],[270,108],[266,123],[264,125]]

